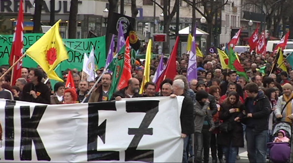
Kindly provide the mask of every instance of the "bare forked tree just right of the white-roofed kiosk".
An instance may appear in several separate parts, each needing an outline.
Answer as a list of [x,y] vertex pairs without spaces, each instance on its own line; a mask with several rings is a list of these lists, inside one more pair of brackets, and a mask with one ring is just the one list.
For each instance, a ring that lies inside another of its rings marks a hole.
[[[207,20],[207,32],[209,33],[208,39],[207,39],[207,47],[211,47],[211,41],[213,36],[213,20],[215,17],[215,14],[218,13],[219,9],[222,9],[227,3],[228,0],[202,0],[201,5],[203,6],[204,11],[202,12],[200,8],[198,8],[196,5],[197,3],[191,0],[183,0],[187,4],[191,5],[193,9],[196,9],[197,12],[199,12],[206,20]],[[195,6],[194,6],[195,5]],[[195,16],[193,16],[195,17]],[[194,27],[193,27],[194,28]]]

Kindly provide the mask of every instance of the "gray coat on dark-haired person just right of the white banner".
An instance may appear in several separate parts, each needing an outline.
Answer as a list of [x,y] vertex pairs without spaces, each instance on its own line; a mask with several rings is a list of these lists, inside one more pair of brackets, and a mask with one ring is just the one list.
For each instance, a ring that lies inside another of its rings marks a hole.
[[194,132],[201,133],[202,127],[204,125],[204,118],[205,116],[208,116],[209,123],[211,124],[211,128],[215,128],[215,124],[213,121],[213,117],[209,110],[209,103],[205,103],[204,106],[201,106],[201,104],[195,100],[194,103]]

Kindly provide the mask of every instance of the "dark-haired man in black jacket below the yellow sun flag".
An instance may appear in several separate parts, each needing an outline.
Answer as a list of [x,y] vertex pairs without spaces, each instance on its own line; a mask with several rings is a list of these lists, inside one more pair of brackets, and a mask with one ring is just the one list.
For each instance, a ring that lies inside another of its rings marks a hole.
[[50,104],[51,92],[49,87],[41,82],[43,73],[37,68],[32,68],[28,75],[30,83],[24,85],[21,101]]

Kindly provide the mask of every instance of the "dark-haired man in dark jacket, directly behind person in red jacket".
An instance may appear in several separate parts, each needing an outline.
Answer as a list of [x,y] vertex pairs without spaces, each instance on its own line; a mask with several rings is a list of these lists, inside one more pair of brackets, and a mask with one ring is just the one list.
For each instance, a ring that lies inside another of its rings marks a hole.
[[236,81],[236,79],[237,79],[236,72],[237,71],[234,71],[234,70],[228,71],[228,73],[227,73],[228,80],[222,82],[222,84],[220,85],[220,88],[221,88],[221,96],[226,94],[226,91],[227,91],[227,88],[228,88],[228,84],[231,82],[231,83],[235,83],[236,84],[236,89],[237,89],[236,92],[241,97],[243,97],[243,90],[241,88],[241,85],[239,85],[239,84],[236,83],[237,82]]

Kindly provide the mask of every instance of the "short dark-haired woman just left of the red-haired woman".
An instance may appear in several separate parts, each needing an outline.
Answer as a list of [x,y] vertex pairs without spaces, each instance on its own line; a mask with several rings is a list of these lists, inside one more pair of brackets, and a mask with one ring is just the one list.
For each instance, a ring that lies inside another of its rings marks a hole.
[[57,82],[54,85],[54,94],[51,95],[51,104],[62,104],[64,101],[65,85],[63,82]]

